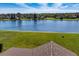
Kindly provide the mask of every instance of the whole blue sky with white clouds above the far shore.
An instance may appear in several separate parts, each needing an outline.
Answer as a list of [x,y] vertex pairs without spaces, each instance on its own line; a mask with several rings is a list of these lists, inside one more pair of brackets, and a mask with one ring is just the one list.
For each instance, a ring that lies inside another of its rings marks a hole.
[[0,3],[1,13],[74,13],[79,3]]

